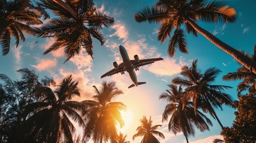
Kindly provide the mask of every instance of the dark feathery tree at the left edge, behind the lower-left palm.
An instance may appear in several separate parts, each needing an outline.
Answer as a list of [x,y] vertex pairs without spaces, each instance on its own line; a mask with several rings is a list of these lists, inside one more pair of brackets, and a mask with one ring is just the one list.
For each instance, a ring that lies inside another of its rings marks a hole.
[[17,70],[21,78],[11,80],[5,74],[0,74],[0,142],[20,142],[17,140],[17,129],[27,120],[24,106],[39,100],[35,90],[41,86],[54,85],[49,77],[39,80],[35,71]]

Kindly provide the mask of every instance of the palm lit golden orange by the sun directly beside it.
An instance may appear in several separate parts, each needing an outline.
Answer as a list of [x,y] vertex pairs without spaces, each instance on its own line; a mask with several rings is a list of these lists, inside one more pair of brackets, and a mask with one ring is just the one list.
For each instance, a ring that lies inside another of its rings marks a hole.
[[124,121],[121,117],[121,110],[125,110],[126,106],[122,102],[113,102],[118,95],[123,94],[121,90],[116,88],[115,82],[103,82],[100,89],[94,87],[94,100],[85,100],[81,103],[87,109],[85,111],[86,127],[85,139],[92,137],[94,142],[111,142],[115,141],[116,123],[121,127]]

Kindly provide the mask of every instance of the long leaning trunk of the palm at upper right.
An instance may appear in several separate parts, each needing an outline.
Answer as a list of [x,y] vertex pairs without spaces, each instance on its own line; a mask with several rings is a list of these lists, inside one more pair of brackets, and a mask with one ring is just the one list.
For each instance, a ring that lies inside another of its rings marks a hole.
[[195,21],[191,20],[190,18],[185,18],[185,20],[199,33],[201,33],[205,38],[207,38],[209,41],[214,43],[214,45],[218,46],[218,48],[221,48],[223,51],[227,52],[227,54],[232,55],[232,57],[235,58],[236,61],[238,61],[240,64],[245,66],[247,69],[251,70],[253,73],[256,74],[256,63],[252,60],[250,60],[248,57],[243,55],[238,50],[232,48],[231,46],[227,45],[226,43],[222,42],[220,39],[216,38],[214,35],[209,33],[207,30],[200,27],[198,24],[195,23]]

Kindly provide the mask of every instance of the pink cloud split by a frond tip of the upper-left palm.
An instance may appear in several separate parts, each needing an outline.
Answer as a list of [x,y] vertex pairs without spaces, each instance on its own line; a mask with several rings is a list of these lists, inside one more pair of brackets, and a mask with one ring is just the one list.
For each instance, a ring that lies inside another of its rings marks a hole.
[[[54,38],[46,38],[45,42],[43,44],[41,44],[40,46],[42,49],[47,50],[48,48],[50,48],[51,45],[53,45],[54,42],[55,42]],[[64,57],[64,55],[65,55],[64,48],[61,47],[57,51],[51,52],[51,54],[55,58]]]

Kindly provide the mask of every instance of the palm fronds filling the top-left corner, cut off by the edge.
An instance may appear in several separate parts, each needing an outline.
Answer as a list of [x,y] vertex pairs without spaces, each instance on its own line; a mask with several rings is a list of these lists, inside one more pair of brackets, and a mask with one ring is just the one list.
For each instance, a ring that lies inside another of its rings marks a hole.
[[44,12],[40,7],[34,6],[28,0],[0,0],[0,44],[2,45],[2,55],[7,55],[10,51],[11,36],[16,39],[17,47],[20,40],[25,41],[23,31],[33,35],[32,28],[29,25],[42,24],[39,18],[42,17],[41,14],[47,15]]

